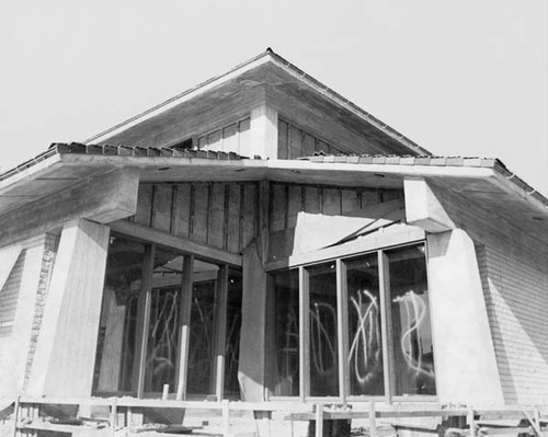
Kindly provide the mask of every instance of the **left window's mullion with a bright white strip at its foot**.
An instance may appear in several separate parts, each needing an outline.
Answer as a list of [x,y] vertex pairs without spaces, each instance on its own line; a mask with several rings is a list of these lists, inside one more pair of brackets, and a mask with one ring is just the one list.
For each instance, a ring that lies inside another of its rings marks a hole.
[[189,375],[189,342],[191,333],[192,284],[194,273],[194,256],[186,255],[183,260],[183,278],[181,283],[181,329],[179,331],[180,358],[176,400],[186,399],[186,377]]

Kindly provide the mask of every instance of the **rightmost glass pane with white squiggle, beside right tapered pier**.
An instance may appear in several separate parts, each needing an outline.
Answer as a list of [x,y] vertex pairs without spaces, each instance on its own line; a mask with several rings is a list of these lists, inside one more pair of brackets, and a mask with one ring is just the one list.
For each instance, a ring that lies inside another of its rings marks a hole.
[[435,394],[424,245],[386,252],[396,394]]

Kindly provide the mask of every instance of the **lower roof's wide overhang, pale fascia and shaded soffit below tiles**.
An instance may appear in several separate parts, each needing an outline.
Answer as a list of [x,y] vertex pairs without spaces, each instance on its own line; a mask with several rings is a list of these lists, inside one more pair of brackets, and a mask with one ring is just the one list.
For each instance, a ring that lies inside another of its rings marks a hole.
[[[326,159],[328,157],[324,157]],[[331,157],[333,161],[338,157]],[[369,159],[367,163],[313,162],[311,160],[252,160],[174,157],[122,157],[50,153],[33,165],[12,172],[0,181],[0,222],[10,211],[72,188],[91,179],[122,169],[136,169],[140,182],[276,182],[384,187],[402,189],[407,179],[465,196],[498,216],[548,235],[548,200],[534,193],[496,160],[470,161],[476,165],[406,164]],[[356,157],[357,158],[357,157]],[[419,159],[415,159],[419,161]],[[431,161],[432,162],[432,161]],[[466,163],[466,162],[465,162]]]

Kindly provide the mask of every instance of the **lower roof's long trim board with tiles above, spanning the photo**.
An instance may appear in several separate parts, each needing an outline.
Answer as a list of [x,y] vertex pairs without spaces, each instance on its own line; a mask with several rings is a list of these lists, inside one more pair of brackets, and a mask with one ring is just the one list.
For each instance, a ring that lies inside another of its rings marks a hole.
[[[516,200],[525,200],[539,215],[548,217],[548,199],[513,175],[495,159],[322,156],[299,160],[261,160],[243,159],[235,153],[155,148],[133,150],[123,147],[111,147],[106,150],[106,148],[109,146],[54,145],[34,160],[0,175],[0,207],[4,203],[4,207],[11,209],[8,200],[16,196],[23,202],[25,195],[23,186],[36,184],[36,180],[44,184],[44,193],[48,193],[46,189],[48,183],[55,183],[56,191],[60,191],[78,183],[78,180],[75,180],[77,175],[79,180],[83,180],[105,171],[133,166],[140,169],[141,180],[144,172],[149,172],[149,175],[156,175],[156,181],[173,182],[176,179],[168,177],[169,171],[175,176],[184,176],[187,173],[193,176],[191,171],[199,171],[201,177],[207,181],[212,180],[212,174],[217,175],[217,173],[219,181],[221,180],[219,177],[227,174],[235,181],[271,179],[296,183],[318,183],[313,182],[315,177],[328,181],[326,176],[332,176],[333,181],[342,181],[338,183],[339,185],[352,183],[366,185],[376,181],[378,186],[388,187],[390,183],[395,184],[392,187],[401,187],[404,179],[424,177],[437,179],[449,186],[460,184],[459,186],[464,187],[461,191],[480,194],[482,187],[475,187],[473,184],[487,181],[489,189],[495,187],[496,191],[502,191]],[[116,154],[113,154],[114,151]],[[215,172],[212,172],[212,169],[215,169]],[[34,191],[33,195],[36,194],[39,192]],[[32,197],[34,198],[35,196]]]

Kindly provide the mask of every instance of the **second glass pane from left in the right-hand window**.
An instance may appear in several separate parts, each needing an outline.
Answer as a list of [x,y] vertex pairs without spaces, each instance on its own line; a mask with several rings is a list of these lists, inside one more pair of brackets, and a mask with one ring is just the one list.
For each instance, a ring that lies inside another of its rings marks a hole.
[[339,395],[335,263],[307,268],[310,314],[310,395]]

